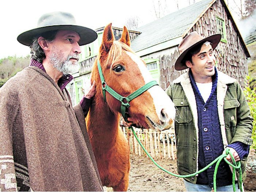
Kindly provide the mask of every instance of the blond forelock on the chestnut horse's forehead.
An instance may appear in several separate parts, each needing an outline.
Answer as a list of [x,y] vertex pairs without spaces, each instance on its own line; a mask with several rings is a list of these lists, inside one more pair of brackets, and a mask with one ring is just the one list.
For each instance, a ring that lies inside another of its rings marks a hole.
[[107,66],[110,65],[110,69],[112,69],[113,64],[122,57],[123,50],[134,53],[131,47],[129,47],[125,43],[120,41],[113,41],[113,44],[110,47],[108,58],[106,61]]

